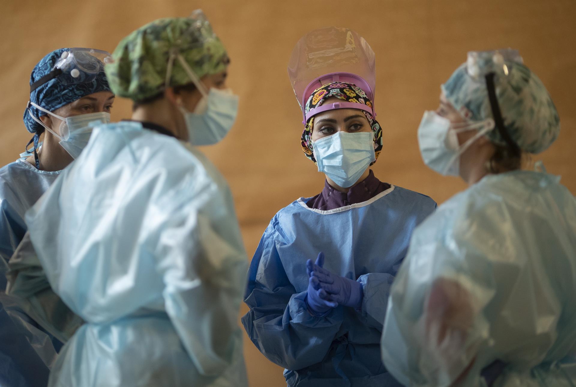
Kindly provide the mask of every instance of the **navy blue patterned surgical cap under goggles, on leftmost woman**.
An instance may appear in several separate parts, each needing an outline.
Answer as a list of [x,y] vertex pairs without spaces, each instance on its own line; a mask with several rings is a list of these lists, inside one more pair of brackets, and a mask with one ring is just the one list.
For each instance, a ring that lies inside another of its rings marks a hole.
[[[50,71],[54,69],[54,65],[62,55],[62,52],[65,51],[70,51],[70,49],[59,48],[44,56],[44,58],[36,64],[34,70],[32,70],[32,74],[30,74],[30,85],[50,73]],[[111,91],[110,86],[108,86],[108,81],[103,69],[92,81],[85,83],[65,85],[60,83],[57,78],[50,79],[50,81],[38,86],[30,93],[30,101],[52,112],[89,94],[109,91]],[[46,115],[46,113],[39,111],[39,109],[36,109],[32,105],[24,111],[24,125],[26,129],[31,133],[36,133],[36,131],[41,132],[44,128],[32,119],[28,110],[38,119],[40,116]]]

